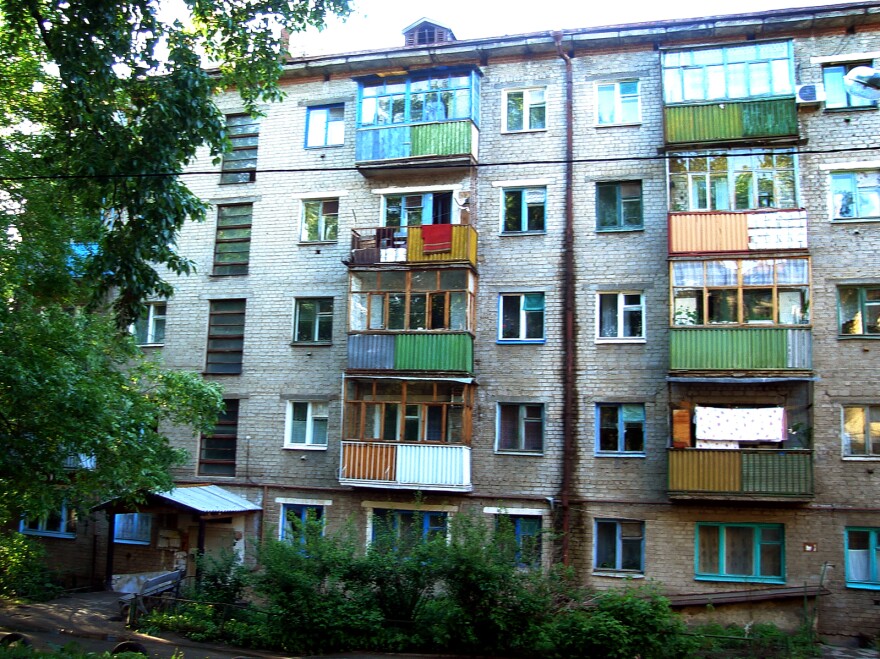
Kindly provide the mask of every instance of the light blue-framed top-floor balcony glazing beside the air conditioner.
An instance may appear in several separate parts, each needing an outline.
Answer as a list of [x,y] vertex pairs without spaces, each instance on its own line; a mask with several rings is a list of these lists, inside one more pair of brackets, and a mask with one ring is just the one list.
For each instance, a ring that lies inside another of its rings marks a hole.
[[794,94],[791,43],[737,44],[663,53],[667,103]]

